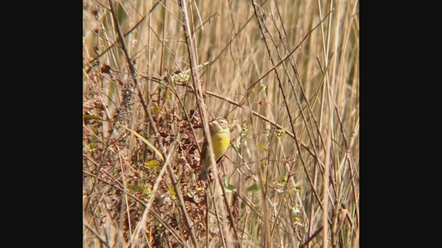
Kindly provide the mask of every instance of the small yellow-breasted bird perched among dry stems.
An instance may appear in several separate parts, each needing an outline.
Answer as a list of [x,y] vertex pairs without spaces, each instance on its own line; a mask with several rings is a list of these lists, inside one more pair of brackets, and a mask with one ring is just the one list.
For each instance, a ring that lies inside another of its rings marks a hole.
[[[218,117],[210,125],[210,136],[212,140],[213,154],[215,155],[215,161],[218,163],[220,158],[227,151],[230,145],[230,130],[229,122],[225,118]],[[206,180],[207,173],[210,167],[209,150],[207,149],[207,141],[204,142],[201,152],[201,173],[198,180]]]

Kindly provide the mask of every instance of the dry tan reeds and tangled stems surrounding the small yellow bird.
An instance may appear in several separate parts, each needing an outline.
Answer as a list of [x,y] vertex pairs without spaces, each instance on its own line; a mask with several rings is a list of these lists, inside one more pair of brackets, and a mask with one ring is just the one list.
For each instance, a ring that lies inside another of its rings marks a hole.
[[358,1],[180,3],[83,1],[84,247],[358,247]]

